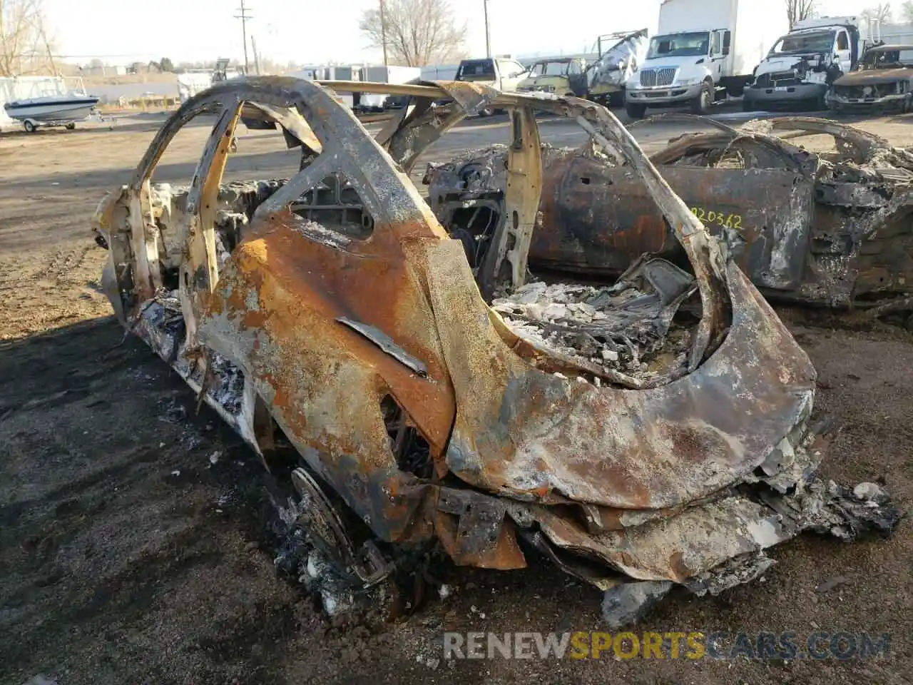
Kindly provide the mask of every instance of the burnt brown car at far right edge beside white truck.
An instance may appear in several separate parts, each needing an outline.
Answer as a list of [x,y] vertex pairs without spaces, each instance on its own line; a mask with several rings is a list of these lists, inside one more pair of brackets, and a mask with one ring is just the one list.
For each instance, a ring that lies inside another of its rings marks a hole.
[[858,68],[834,81],[826,100],[838,112],[913,110],[913,45],[870,47]]

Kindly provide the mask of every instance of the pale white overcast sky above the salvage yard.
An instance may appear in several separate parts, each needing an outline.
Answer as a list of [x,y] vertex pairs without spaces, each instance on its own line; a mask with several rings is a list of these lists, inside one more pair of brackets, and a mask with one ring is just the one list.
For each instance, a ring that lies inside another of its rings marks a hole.
[[[741,0],[782,4],[782,0]],[[381,63],[358,29],[362,10],[378,0],[245,0],[248,36],[279,63]],[[451,0],[467,21],[467,50],[485,54],[484,0]],[[875,0],[821,0],[823,15],[850,15]],[[108,64],[171,58],[173,62],[242,58],[240,0],[154,0],[127,11],[122,0],[45,0],[57,52],[68,61]],[[141,9],[142,8],[142,9]],[[783,9],[785,12],[785,9]],[[488,0],[492,54],[553,56],[589,51],[597,34],[656,29],[659,0]],[[252,59],[252,58],[251,58]]]

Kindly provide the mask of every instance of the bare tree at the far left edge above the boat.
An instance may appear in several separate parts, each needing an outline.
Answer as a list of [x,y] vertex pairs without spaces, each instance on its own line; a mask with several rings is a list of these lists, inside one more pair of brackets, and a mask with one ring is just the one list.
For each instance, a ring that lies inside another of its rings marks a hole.
[[41,0],[0,0],[0,77],[55,73]]

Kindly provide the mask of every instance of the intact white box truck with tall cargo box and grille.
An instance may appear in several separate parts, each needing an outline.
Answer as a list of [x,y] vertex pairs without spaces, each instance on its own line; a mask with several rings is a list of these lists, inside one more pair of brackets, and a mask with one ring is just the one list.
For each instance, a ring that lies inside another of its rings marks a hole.
[[786,9],[763,0],[665,0],[646,58],[624,84],[628,115],[683,105],[703,114],[739,97],[788,27]]

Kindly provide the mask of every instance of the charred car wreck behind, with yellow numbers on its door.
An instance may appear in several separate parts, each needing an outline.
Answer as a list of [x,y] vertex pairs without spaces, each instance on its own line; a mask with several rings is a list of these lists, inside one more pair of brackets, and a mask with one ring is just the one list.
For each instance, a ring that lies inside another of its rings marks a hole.
[[[711,233],[729,240],[765,296],[845,308],[913,294],[913,155],[834,121],[783,117],[741,128],[701,121],[714,129],[679,137],[651,161]],[[836,152],[792,143],[813,134],[833,136]],[[683,264],[679,242],[630,166],[590,145],[544,146],[543,155],[533,267],[598,278],[621,274],[644,253]],[[448,230],[477,235],[497,224],[504,157],[503,147],[492,148],[429,166],[429,202]]]

